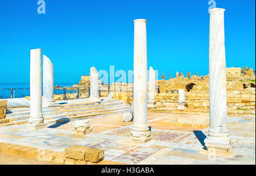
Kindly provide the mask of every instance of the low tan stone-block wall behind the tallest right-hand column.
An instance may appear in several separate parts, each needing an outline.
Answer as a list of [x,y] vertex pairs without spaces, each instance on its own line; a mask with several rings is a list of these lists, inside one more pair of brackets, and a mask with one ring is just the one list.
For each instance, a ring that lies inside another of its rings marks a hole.
[[[183,111],[209,113],[209,92],[185,92],[187,109]],[[157,93],[155,96],[158,110],[177,110],[178,93]],[[255,90],[228,91],[228,114],[255,114]]]

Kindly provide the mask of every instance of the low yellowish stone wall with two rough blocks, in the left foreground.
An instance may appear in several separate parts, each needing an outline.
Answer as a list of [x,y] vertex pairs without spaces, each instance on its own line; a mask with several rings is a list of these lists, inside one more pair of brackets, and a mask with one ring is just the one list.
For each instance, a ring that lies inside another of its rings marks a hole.
[[67,165],[113,164],[111,161],[103,160],[104,151],[102,149],[89,148],[80,145],[72,145],[71,147],[66,148],[63,153],[0,142],[0,154]]

